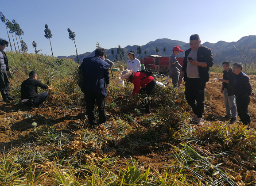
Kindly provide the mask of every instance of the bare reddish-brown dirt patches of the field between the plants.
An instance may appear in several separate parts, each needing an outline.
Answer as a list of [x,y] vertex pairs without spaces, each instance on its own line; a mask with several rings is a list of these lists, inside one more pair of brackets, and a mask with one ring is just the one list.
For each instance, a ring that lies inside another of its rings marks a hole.
[[[210,81],[206,86],[207,100],[212,102],[215,110],[207,111],[206,121],[218,118],[225,121],[221,116],[225,115],[225,106],[223,103],[223,97],[220,92],[221,82],[215,78],[221,78],[221,73],[211,73]],[[249,76],[253,91],[256,88],[256,76]],[[251,98],[249,105],[249,111],[251,114],[251,127],[256,128],[256,110],[255,110],[256,98]],[[113,111],[114,112],[114,111]],[[154,110],[153,110],[154,112]],[[113,113],[109,113],[113,114]],[[205,114],[206,115],[206,114]],[[238,118],[239,120],[239,118]],[[70,130],[75,127],[75,124],[83,124],[85,121],[85,109],[82,107],[72,107],[68,109],[60,108],[54,103],[47,103],[42,108],[33,108],[32,110],[23,106],[23,104],[12,101],[11,103],[0,102],[0,149],[1,151],[7,151],[12,146],[23,144],[27,142],[33,126],[32,122],[46,123],[51,121],[57,129]],[[143,147],[142,147],[143,148]],[[164,153],[164,152],[159,152]],[[140,162],[151,164],[153,167],[159,167],[163,165],[168,159],[165,156],[159,156],[157,153],[151,152],[150,149],[143,149],[141,152],[137,152],[132,155]]]

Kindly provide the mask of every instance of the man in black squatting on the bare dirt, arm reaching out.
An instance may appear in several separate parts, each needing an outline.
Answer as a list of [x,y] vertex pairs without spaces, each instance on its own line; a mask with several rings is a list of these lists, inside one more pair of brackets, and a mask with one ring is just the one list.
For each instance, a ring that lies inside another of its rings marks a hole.
[[23,102],[24,105],[29,107],[40,107],[42,103],[47,100],[48,93],[43,92],[38,94],[37,87],[52,90],[51,87],[46,84],[42,84],[39,80],[37,80],[37,73],[31,71],[29,73],[29,78],[23,81],[20,88],[20,97],[22,99],[21,102]]

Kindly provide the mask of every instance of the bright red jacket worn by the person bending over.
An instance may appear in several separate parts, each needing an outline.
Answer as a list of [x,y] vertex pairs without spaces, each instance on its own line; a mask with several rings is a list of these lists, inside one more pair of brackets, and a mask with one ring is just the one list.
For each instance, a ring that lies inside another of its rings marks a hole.
[[143,72],[134,72],[134,76],[132,78],[132,83],[134,85],[132,95],[136,95],[140,91],[140,87],[144,88],[147,86],[147,84],[153,81],[152,76],[147,76],[146,78],[144,78],[145,76],[147,76],[147,74]]

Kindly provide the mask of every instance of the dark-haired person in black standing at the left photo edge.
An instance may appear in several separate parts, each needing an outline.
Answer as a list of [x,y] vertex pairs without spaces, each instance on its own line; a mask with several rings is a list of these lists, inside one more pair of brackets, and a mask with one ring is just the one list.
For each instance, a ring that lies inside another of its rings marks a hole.
[[12,71],[9,69],[8,59],[6,53],[4,52],[4,49],[8,46],[8,44],[8,41],[0,38],[0,92],[3,97],[3,101],[9,103],[11,100],[14,100],[14,98],[10,96],[9,80],[7,76],[7,71],[10,73],[10,75],[12,75]]

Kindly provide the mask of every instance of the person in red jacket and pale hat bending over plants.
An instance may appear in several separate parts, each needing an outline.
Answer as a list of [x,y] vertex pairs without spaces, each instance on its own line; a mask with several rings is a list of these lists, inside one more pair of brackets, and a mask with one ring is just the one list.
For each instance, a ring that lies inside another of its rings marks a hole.
[[142,109],[145,109],[145,114],[151,114],[150,99],[148,96],[151,95],[155,87],[155,79],[152,76],[148,76],[146,73],[133,72],[133,70],[128,69],[120,72],[119,76],[122,80],[126,79],[132,81],[134,88],[132,94],[129,96],[130,98],[133,98],[138,92],[147,95]]

